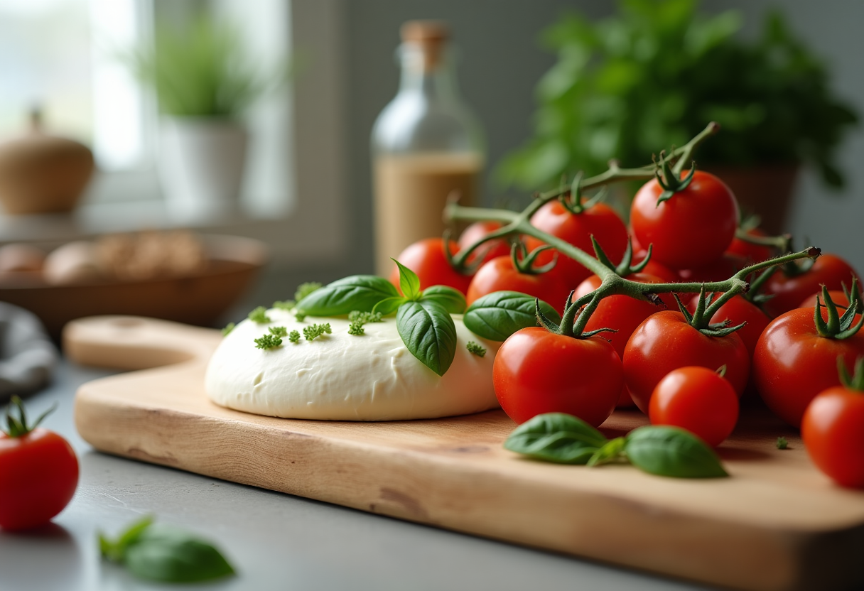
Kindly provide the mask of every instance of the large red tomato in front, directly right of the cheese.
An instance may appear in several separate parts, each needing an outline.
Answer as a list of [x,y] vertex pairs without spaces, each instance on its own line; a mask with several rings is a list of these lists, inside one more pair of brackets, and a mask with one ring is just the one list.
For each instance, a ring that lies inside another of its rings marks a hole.
[[574,339],[543,327],[511,334],[492,365],[495,396],[517,423],[565,412],[597,427],[612,414],[623,383],[621,360],[607,340]]

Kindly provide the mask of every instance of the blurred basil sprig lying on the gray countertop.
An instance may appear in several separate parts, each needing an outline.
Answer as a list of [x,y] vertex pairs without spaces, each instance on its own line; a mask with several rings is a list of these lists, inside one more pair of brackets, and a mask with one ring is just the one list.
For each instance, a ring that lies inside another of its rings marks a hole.
[[233,575],[234,568],[213,544],[165,524],[143,518],[116,540],[99,532],[99,552],[149,581],[212,581]]

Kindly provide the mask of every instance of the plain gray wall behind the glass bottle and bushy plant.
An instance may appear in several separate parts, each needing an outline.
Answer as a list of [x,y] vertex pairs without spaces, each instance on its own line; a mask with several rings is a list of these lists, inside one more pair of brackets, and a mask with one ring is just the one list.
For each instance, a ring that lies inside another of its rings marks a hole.
[[[295,0],[301,2],[305,0]],[[461,92],[486,131],[488,161],[530,137],[533,88],[555,56],[539,48],[540,31],[564,10],[598,18],[614,10],[600,0],[341,0],[344,30],[344,130],[346,207],[352,248],[339,264],[282,268],[268,276],[252,299],[267,302],[293,293],[301,281],[331,281],[339,276],[372,272],[372,191],[369,135],[378,112],[397,90],[394,50],[399,25],[412,18],[450,22],[461,54]],[[707,13],[734,8],[745,16],[743,35],[754,35],[766,10],[785,12],[791,28],[822,56],[833,73],[835,91],[864,117],[864,2],[860,0],[708,0]],[[864,127],[850,134],[840,163],[848,185],[842,194],[823,187],[804,170],[797,184],[789,230],[824,251],[846,257],[864,271]],[[486,183],[486,203],[499,196]]]

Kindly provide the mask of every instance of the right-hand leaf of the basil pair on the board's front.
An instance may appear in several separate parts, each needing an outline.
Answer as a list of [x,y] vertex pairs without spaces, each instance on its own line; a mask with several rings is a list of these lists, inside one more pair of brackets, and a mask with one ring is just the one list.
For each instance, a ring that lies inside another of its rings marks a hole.
[[720,478],[729,474],[708,443],[677,427],[639,427],[626,437],[624,451],[633,466],[675,478]]

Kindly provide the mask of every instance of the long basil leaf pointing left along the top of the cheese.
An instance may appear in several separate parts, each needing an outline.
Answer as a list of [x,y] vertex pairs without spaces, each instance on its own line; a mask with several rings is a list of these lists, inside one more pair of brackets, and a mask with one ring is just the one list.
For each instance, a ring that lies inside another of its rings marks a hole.
[[296,309],[310,316],[337,316],[353,310],[372,312],[375,304],[397,297],[396,287],[374,275],[353,275],[315,289],[297,302]]

